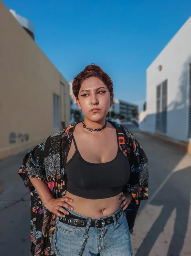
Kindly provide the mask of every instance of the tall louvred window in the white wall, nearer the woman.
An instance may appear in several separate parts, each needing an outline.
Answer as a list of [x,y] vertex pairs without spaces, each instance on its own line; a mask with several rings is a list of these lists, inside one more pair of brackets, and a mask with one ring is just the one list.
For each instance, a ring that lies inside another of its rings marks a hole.
[[167,80],[157,86],[156,91],[156,131],[167,132]]

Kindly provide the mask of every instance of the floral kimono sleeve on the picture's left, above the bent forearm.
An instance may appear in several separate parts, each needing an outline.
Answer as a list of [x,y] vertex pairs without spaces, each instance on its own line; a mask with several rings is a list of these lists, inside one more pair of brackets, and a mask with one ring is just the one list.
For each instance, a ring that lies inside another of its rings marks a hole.
[[18,172],[20,177],[23,179],[24,185],[31,192],[34,192],[35,188],[32,185],[29,177],[38,178],[47,183],[46,172],[43,165],[46,143],[47,141],[44,141],[43,143],[37,145],[24,156],[22,165]]

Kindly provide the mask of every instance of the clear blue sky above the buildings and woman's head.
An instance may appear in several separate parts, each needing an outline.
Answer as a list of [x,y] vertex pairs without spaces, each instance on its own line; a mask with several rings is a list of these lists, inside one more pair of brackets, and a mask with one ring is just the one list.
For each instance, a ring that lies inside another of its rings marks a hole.
[[36,43],[68,81],[91,63],[114,97],[143,103],[146,69],[191,16],[190,0],[3,0],[35,25]]

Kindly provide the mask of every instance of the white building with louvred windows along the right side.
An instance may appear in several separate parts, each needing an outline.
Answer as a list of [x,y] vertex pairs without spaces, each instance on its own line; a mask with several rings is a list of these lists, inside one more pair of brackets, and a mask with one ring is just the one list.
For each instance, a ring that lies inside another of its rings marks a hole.
[[191,141],[191,17],[147,69],[147,110],[140,129]]

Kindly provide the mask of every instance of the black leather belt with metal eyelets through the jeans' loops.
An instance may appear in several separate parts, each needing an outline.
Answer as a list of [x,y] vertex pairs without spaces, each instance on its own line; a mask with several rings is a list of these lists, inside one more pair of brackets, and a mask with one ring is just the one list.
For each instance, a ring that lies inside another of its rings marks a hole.
[[[119,210],[116,214],[114,214],[116,221],[121,217],[122,212],[123,212],[123,208],[121,208],[121,210]],[[67,225],[76,226],[76,227],[86,227],[88,222],[88,219],[77,217],[71,213],[69,213],[68,215],[65,215],[64,218],[59,217],[59,220]],[[97,229],[101,229],[111,223],[114,223],[112,215],[110,217],[104,217],[96,220],[91,219],[90,228],[95,227]]]

